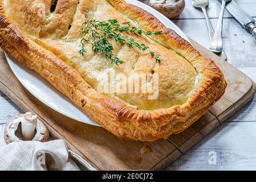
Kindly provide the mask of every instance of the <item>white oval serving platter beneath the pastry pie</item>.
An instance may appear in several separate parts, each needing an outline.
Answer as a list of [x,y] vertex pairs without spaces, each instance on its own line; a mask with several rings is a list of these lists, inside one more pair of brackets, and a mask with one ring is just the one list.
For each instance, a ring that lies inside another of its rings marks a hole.
[[[172,28],[182,38],[188,40],[188,38],[180,30],[180,28],[178,28],[164,15],[162,15],[155,9],[152,9],[152,7],[149,7],[137,0],[126,0],[126,2],[136,5],[141,9],[147,10],[151,14],[155,15],[156,18],[159,19],[166,27]],[[18,78],[22,85],[25,86],[25,88],[29,90],[29,92],[38,100],[43,102],[48,107],[51,107],[51,109],[54,109],[55,111],[58,111],[59,113],[65,115],[66,117],[75,119],[76,121],[87,123],[89,125],[99,126],[86,113],[84,113],[82,109],[74,105],[66,96],[56,90],[37,73],[18,64],[8,55],[6,55],[6,59],[10,65],[11,70],[14,72],[14,75]]]

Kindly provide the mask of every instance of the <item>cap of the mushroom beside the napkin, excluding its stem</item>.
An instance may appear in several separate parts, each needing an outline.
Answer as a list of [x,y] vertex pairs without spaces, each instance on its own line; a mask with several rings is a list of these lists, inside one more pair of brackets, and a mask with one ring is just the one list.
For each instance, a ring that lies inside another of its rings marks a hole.
[[[14,123],[14,119],[25,117],[25,114],[18,114],[11,118],[6,126],[3,136],[6,144],[11,142],[23,141],[21,122]],[[49,139],[49,131],[44,123],[38,118],[36,123],[36,133],[32,141],[47,142]]]

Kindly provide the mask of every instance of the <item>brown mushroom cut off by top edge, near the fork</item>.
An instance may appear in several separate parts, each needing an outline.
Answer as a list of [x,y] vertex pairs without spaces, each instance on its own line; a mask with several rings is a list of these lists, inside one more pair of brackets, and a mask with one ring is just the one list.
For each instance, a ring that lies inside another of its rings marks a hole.
[[184,0],[149,0],[149,6],[164,14],[167,18],[179,15],[185,7]]

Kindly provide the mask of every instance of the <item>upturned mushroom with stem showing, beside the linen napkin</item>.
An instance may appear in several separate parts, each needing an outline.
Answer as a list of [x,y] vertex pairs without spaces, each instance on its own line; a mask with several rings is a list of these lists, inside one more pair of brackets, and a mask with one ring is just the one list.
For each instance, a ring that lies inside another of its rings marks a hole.
[[7,144],[23,140],[46,142],[49,131],[37,115],[29,112],[11,118],[6,124],[4,137]]

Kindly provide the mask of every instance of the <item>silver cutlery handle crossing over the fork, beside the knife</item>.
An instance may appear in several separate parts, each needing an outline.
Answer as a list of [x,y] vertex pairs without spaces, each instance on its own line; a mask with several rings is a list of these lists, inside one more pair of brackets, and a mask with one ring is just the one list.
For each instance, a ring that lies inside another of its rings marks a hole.
[[222,52],[222,22],[223,22],[223,15],[224,10],[227,2],[230,2],[231,0],[221,0],[221,13],[220,18],[218,19],[217,27],[212,39],[212,42],[210,44],[210,51],[219,53]]

